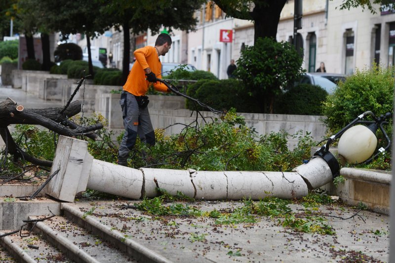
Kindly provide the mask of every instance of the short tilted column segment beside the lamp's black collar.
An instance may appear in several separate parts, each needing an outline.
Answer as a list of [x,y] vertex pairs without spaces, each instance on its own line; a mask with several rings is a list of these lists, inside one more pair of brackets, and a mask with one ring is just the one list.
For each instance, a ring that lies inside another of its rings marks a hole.
[[317,189],[333,179],[328,164],[321,157],[316,157],[307,164],[302,164],[293,169],[303,177],[309,190]]

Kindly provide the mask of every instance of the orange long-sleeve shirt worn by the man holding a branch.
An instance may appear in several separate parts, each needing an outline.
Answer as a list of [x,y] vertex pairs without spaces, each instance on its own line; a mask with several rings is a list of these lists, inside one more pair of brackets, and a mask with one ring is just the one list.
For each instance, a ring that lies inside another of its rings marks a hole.
[[134,62],[132,70],[127,76],[125,85],[123,85],[123,90],[132,93],[136,96],[145,95],[151,84],[158,91],[167,91],[167,87],[160,83],[150,83],[146,81],[146,76],[144,69],[150,68],[152,72],[161,79],[161,69],[162,64],[160,63],[158,52],[154,46],[145,46],[134,51],[134,57],[136,62]]

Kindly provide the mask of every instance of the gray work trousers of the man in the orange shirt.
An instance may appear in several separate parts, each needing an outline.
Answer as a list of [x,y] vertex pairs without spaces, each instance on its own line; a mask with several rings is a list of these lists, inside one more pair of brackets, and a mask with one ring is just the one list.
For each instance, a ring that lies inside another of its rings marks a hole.
[[126,162],[129,152],[136,143],[137,135],[139,135],[142,142],[155,145],[155,132],[152,127],[148,108],[139,107],[136,97],[124,90],[120,95],[119,104],[122,108],[125,134],[119,146],[118,163]]

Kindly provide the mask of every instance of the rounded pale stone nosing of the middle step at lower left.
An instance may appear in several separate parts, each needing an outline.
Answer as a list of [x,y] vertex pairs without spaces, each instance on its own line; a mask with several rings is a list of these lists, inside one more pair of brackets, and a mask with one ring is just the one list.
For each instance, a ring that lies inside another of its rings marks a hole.
[[[29,217],[29,219],[37,218]],[[44,222],[37,222],[36,227],[40,229],[42,235],[45,237],[46,240],[62,250],[71,260],[86,263],[99,263],[97,260],[89,256],[83,250],[80,250],[79,247],[74,245],[67,238],[59,235],[56,231],[52,230]]]

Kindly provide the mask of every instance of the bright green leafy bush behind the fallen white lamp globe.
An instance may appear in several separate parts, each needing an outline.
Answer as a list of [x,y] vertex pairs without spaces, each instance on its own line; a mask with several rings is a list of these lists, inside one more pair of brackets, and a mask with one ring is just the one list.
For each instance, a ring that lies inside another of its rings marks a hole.
[[323,104],[323,114],[327,117],[324,123],[335,133],[365,111],[372,111],[376,116],[393,112],[393,101],[394,68],[374,64],[370,69],[357,70],[327,96]]

